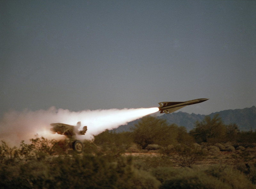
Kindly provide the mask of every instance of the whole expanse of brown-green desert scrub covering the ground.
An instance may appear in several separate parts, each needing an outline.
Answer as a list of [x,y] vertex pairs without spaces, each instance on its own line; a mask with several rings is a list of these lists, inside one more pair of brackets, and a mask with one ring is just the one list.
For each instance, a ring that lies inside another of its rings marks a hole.
[[79,155],[65,140],[1,141],[0,188],[256,188],[255,132],[217,116],[195,126],[188,133],[148,116],[131,132],[84,140]]

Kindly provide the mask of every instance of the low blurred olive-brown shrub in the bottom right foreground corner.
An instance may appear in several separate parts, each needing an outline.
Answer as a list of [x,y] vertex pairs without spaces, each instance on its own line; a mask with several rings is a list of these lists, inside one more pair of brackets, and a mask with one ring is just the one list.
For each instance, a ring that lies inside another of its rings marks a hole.
[[157,168],[152,174],[162,183],[160,189],[242,189],[255,185],[231,166],[213,165],[208,168]]

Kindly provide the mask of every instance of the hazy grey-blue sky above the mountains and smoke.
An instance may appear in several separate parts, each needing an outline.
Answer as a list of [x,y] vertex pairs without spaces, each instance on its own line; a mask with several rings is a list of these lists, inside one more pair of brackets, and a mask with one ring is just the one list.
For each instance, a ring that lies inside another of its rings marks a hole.
[[256,105],[256,1],[0,4],[0,116],[9,110]]

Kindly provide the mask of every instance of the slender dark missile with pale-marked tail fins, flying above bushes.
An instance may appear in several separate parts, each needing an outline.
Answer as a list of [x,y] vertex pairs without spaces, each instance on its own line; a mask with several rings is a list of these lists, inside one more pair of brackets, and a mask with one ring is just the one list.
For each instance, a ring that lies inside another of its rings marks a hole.
[[161,113],[169,114],[169,113],[177,111],[185,106],[201,103],[201,102],[204,102],[207,100],[209,100],[209,98],[198,98],[195,100],[190,100],[190,101],[185,101],[185,102],[159,102],[158,104],[160,106],[158,107],[158,109],[160,111],[160,114]]

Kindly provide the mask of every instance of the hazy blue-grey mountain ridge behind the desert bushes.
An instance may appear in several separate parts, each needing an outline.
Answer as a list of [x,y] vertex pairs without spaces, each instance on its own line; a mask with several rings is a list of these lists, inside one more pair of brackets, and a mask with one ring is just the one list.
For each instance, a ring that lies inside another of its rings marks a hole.
[[[256,129],[256,107],[252,106],[251,108],[236,109],[236,110],[223,110],[219,112],[211,113],[209,116],[219,114],[223,123],[228,125],[230,123],[235,123],[238,125],[238,128],[241,131],[249,131]],[[166,119],[169,124],[177,124],[179,126],[186,127],[187,131],[190,131],[194,128],[195,122],[202,121],[205,115],[201,114],[188,114],[185,112],[177,112],[171,114],[164,114],[158,116],[158,118]],[[130,128],[134,124],[138,123],[140,119],[129,122],[127,125],[121,125],[116,129],[116,132],[130,131]]]

